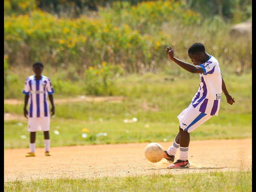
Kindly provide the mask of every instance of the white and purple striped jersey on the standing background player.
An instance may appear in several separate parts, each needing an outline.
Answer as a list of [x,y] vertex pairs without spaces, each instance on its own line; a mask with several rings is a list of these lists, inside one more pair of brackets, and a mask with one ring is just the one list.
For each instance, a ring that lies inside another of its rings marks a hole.
[[50,116],[49,105],[47,102],[48,94],[53,94],[52,82],[46,76],[41,80],[36,80],[35,76],[29,76],[26,79],[23,94],[29,95],[28,99],[28,117],[47,117]]

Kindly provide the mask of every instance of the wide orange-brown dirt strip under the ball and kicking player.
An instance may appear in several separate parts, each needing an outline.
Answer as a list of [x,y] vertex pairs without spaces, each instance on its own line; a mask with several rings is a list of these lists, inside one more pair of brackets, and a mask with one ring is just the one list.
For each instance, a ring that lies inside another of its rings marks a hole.
[[[37,156],[31,158],[25,157],[28,149],[4,150],[4,181],[246,170],[252,166],[252,139],[191,141],[191,166],[179,170],[167,170],[165,160],[147,162],[146,144],[56,147],[51,148],[50,157],[44,156],[43,148],[38,148]],[[166,149],[172,143],[160,144]]]

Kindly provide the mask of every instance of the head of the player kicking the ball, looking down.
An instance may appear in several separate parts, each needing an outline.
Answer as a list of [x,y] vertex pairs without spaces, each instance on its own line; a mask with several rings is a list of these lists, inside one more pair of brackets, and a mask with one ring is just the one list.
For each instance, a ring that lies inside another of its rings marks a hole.
[[205,48],[202,43],[194,43],[188,49],[188,56],[194,65],[200,65],[205,60]]

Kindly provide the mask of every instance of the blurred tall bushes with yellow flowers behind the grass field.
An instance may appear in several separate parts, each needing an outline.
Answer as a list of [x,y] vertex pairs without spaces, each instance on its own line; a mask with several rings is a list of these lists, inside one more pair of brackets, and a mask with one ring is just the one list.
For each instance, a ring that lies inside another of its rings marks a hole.
[[115,79],[131,73],[179,76],[165,49],[189,61],[194,42],[226,71],[250,72],[252,36],[230,27],[251,18],[250,0],[4,0],[5,98],[20,96],[35,61],[67,94],[81,82],[80,94],[112,95]]

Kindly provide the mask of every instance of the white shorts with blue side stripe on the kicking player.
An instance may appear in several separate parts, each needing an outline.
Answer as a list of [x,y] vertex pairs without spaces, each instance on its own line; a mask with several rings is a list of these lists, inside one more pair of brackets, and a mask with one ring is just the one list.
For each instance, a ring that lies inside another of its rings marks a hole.
[[191,104],[184,109],[179,115],[180,128],[184,131],[192,132],[198,126],[202,125],[212,116],[196,110]]

